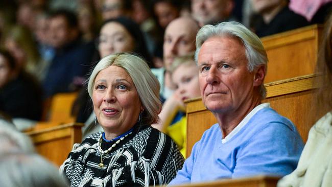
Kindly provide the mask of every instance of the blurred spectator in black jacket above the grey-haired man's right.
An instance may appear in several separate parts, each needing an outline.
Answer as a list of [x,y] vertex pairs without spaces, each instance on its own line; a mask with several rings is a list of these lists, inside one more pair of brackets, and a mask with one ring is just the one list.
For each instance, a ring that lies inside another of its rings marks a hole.
[[288,8],[288,0],[251,0],[251,2],[255,12],[262,16],[253,25],[258,37],[309,25],[304,17]]

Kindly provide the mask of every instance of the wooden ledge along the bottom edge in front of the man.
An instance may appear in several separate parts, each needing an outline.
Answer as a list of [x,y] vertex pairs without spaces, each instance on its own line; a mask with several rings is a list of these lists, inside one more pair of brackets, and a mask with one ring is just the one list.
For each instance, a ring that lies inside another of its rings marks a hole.
[[177,185],[178,187],[275,187],[279,178],[255,176],[251,178],[224,179],[212,182]]

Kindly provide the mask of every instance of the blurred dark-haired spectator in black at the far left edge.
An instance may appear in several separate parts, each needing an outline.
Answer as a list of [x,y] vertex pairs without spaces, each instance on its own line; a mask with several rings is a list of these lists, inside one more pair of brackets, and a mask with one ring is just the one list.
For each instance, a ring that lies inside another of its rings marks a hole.
[[16,71],[9,52],[0,50],[0,111],[12,118],[38,121],[41,118],[41,91],[36,81],[23,71]]

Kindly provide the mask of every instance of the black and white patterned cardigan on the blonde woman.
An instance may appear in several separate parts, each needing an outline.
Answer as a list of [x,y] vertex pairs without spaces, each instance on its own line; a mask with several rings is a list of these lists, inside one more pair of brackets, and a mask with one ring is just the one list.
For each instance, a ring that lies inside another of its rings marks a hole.
[[[60,167],[72,186],[149,186],[168,184],[184,159],[173,140],[150,126],[135,127],[101,161],[98,139],[102,132],[88,136]],[[111,145],[102,141],[102,149]],[[103,154],[103,158],[104,158]]]

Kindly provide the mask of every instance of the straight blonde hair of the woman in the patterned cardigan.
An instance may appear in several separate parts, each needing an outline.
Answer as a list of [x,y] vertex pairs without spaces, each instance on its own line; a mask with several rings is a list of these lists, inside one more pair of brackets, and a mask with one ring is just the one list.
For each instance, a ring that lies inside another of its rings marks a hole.
[[139,99],[145,108],[142,113],[143,124],[158,122],[158,114],[161,110],[159,100],[160,85],[157,78],[152,74],[150,68],[142,58],[131,53],[117,53],[104,57],[94,67],[88,80],[88,92],[92,98],[94,80],[103,69],[115,65],[122,67],[131,77],[136,87]]

